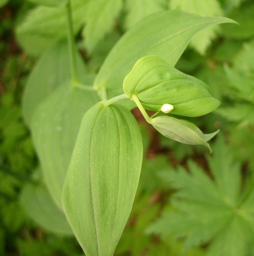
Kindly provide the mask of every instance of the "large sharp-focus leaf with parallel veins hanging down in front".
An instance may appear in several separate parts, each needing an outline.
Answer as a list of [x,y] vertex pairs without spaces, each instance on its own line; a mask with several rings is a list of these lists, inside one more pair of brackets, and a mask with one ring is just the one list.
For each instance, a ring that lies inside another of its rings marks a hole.
[[113,255],[131,212],[142,153],[137,122],[125,107],[100,102],[83,117],[63,206],[86,255]]

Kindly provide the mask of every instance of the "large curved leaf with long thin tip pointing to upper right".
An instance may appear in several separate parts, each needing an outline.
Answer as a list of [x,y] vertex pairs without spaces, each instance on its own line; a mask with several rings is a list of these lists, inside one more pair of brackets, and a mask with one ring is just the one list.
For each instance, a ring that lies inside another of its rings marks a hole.
[[138,59],[158,55],[174,66],[194,34],[211,25],[226,22],[233,21],[200,17],[179,10],[150,15],[126,32],[114,46],[94,86],[98,89],[105,87],[108,97],[120,95],[123,80]]

